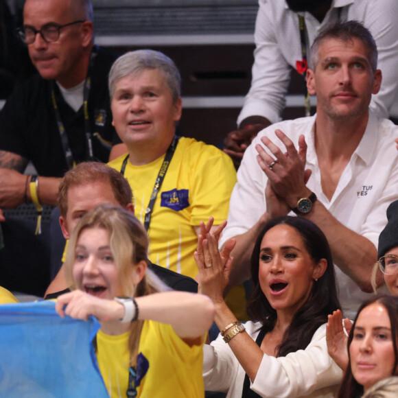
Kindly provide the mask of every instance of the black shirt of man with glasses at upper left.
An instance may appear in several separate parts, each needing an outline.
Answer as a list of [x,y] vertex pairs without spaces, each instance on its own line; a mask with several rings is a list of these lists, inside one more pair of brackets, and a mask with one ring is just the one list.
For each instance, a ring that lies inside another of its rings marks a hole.
[[[108,93],[108,73],[116,56],[96,46],[93,51],[96,56],[88,102],[93,154],[96,160],[106,163],[111,146],[121,142],[112,126]],[[38,74],[17,86],[1,110],[0,150],[29,159],[40,176],[62,177],[67,171],[67,162],[51,100],[52,87],[73,159],[77,163],[89,160],[83,106],[75,113],[57,84]]]

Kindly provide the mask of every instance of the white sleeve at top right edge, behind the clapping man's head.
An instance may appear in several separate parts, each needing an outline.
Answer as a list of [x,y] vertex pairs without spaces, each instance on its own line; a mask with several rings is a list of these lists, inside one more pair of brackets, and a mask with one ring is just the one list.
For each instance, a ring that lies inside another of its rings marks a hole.
[[[363,2],[362,2],[363,3]],[[398,99],[398,1],[366,1],[363,23],[371,31],[379,53],[377,68],[381,69],[382,87],[372,96],[371,109],[379,117],[388,117],[395,99]]]

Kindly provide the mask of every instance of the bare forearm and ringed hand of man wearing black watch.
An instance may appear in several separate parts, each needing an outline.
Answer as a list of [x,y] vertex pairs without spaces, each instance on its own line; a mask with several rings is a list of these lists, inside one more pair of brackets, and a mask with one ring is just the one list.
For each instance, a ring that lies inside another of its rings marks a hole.
[[[281,130],[275,134],[287,149],[284,154],[277,145],[274,145],[268,137],[261,138],[272,153],[267,154],[261,145],[256,145],[259,153],[258,161],[261,169],[266,174],[272,189],[285,200],[290,208],[296,207],[298,198],[307,198],[311,190],[305,185],[305,152],[307,145],[304,137],[299,139],[299,150],[296,150],[292,141]],[[276,158],[278,163],[272,169],[268,167]],[[377,261],[377,249],[366,237],[355,233],[339,222],[317,200],[312,211],[302,217],[311,220],[325,233],[334,263],[347,274],[364,292],[372,292],[371,273],[373,264]]]

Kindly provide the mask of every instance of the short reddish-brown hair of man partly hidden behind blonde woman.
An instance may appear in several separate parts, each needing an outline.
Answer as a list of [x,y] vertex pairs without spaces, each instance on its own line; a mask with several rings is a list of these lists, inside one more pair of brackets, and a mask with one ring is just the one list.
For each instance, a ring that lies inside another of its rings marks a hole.
[[65,173],[58,189],[58,207],[62,217],[67,216],[70,187],[104,181],[109,183],[113,195],[121,207],[132,202],[132,190],[128,180],[112,167],[100,162],[82,162]]

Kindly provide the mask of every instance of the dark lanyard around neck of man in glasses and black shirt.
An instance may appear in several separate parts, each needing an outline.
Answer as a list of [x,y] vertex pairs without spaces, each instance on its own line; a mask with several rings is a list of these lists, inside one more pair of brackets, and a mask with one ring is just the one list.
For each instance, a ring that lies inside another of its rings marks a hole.
[[[86,80],[84,81],[84,89],[83,89],[83,109],[84,109],[84,136],[86,137],[86,145],[87,145],[87,160],[94,160],[93,155],[93,140],[91,139],[91,127],[90,127],[90,119],[89,119],[89,94],[91,89],[91,71],[93,69],[94,58],[97,56],[95,51],[95,47],[93,51],[91,51],[90,56],[90,65],[89,65],[89,73],[87,73]],[[69,146],[69,140],[67,136],[67,132],[65,130],[65,126],[62,123],[60,110],[58,108],[56,102],[56,93],[55,93],[55,83],[51,82],[51,99],[54,106],[54,111],[56,113],[56,121],[58,124],[58,131],[60,132],[60,138],[62,143],[62,148],[64,150],[65,159],[67,161],[68,169],[73,169],[75,166],[75,161],[73,159],[73,154],[71,151],[71,147]]]

